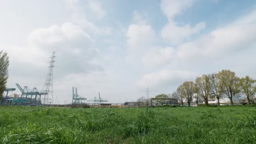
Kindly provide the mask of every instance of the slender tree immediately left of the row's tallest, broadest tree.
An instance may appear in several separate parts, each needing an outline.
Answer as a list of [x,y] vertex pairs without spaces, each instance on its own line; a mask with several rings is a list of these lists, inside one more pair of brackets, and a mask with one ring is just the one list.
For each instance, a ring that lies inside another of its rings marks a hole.
[[223,94],[222,83],[219,82],[219,79],[217,78],[217,74],[208,75],[208,77],[210,77],[210,83],[211,83],[210,91],[211,91],[211,94],[214,97],[217,98],[218,105],[220,105],[219,99],[220,99],[220,97],[222,97],[222,94]]

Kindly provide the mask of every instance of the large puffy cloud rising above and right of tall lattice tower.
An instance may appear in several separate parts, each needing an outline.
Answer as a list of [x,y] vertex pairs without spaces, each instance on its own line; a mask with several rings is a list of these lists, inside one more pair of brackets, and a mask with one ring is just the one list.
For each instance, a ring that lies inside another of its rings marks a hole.
[[95,64],[98,50],[91,47],[94,40],[73,23],[36,29],[28,37],[28,43],[48,53],[56,51],[57,65],[60,69],[65,69],[62,73],[84,73],[101,69]]

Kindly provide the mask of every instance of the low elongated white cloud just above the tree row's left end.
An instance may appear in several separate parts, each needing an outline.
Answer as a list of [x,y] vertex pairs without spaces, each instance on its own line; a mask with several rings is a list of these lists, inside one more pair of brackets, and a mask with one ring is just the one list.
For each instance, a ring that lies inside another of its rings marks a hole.
[[171,87],[185,80],[194,79],[195,74],[190,71],[159,70],[146,74],[137,82],[139,87]]

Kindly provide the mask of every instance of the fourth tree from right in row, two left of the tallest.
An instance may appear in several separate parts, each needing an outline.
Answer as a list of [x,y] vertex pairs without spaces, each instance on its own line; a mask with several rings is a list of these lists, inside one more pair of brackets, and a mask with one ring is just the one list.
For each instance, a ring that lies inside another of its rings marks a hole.
[[[210,89],[211,82],[210,77],[207,75],[202,75],[196,78],[196,86],[198,88],[198,95],[196,97],[201,96],[205,100],[205,104],[208,105],[208,98],[210,98]],[[198,99],[198,98],[197,98]],[[197,100],[198,103],[198,100]]]

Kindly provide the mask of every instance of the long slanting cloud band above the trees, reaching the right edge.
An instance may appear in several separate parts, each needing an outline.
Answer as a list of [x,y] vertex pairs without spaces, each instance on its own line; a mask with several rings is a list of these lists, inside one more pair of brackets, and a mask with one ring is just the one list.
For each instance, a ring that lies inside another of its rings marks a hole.
[[198,40],[178,46],[177,57],[182,60],[216,58],[232,55],[256,44],[256,10],[229,25],[217,28]]

